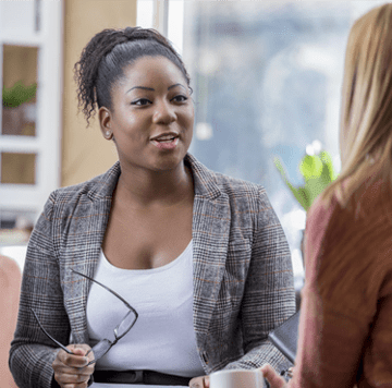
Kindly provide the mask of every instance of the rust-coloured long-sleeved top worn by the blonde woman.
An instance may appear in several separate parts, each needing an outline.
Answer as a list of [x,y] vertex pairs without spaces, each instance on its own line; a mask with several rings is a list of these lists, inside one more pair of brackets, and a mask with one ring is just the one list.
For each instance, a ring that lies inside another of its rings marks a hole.
[[381,189],[355,208],[317,201],[308,211],[291,388],[392,387],[392,197]]

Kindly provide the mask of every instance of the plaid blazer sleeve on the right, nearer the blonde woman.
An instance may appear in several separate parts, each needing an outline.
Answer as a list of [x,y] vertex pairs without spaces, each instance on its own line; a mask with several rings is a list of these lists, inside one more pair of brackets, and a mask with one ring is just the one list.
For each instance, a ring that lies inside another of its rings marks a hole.
[[225,368],[249,369],[269,363],[281,372],[291,363],[268,340],[268,334],[295,313],[291,254],[262,187],[256,209],[252,258],[241,311],[244,355]]

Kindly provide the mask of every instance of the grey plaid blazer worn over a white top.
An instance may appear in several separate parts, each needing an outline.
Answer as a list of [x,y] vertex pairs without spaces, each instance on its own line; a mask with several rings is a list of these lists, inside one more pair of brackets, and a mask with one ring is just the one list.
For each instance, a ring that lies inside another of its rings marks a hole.
[[[185,162],[195,184],[193,208],[194,328],[206,374],[289,361],[268,341],[295,311],[292,264],[265,190]],[[32,233],[10,367],[20,388],[51,386],[61,343],[89,343],[86,303],[110,213],[120,165],[88,182],[53,192]]]

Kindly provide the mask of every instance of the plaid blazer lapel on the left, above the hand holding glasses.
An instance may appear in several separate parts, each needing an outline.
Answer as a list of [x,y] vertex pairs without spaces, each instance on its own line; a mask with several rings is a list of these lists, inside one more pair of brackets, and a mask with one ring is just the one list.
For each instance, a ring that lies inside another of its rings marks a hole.
[[72,341],[75,343],[89,342],[86,307],[91,282],[72,272],[71,268],[94,277],[109,220],[112,192],[119,175],[120,167],[117,163],[87,192],[84,201],[79,201],[70,221],[72,238],[69,233],[62,265],[64,303],[70,317]]

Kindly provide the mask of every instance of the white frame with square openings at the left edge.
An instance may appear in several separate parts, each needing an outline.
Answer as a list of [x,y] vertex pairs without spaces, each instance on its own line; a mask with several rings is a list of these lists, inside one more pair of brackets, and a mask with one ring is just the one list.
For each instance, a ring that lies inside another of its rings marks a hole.
[[[4,3],[0,2],[0,12],[5,11]],[[21,28],[0,28],[1,81],[4,45],[38,48],[36,135],[2,135],[0,131],[0,153],[36,154],[35,184],[0,183],[0,218],[4,214],[8,218],[23,215],[34,218],[32,222],[61,179],[63,2],[35,0],[33,12],[36,26],[33,34]],[[0,123],[1,114],[2,111]]]

